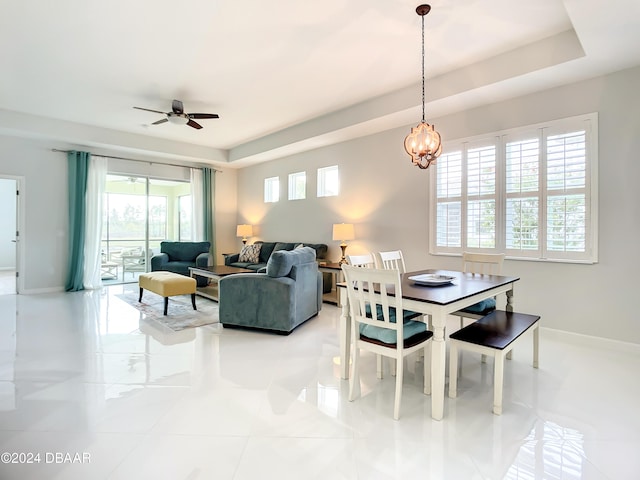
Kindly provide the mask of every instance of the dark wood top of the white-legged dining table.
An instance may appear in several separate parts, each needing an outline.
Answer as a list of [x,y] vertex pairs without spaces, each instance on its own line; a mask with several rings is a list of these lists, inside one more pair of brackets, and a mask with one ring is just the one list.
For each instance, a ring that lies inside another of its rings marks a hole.
[[[435,275],[448,275],[455,277],[451,283],[438,286],[418,285],[409,277],[431,273]],[[503,275],[479,275],[473,273],[456,272],[451,270],[420,270],[407,272],[402,275],[402,298],[417,300],[419,302],[448,305],[463,298],[471,297],[478,293],[486,292],[496,287],[520,280],[520,277],[506,277]],[[339,287],[346,288],[341,282]],[[392,292],[389,292],[392,293]]]

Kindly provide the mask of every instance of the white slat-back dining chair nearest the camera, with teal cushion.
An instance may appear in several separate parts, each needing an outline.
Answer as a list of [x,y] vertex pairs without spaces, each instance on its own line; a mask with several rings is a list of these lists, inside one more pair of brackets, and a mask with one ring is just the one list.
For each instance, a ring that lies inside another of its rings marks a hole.
[[[400,417],[404,358],[422,351],[424,354],[424,394],[431,394],[431,338],[433,332],[424,322],[396,321],[402,309],[400,272],[343,265],[352,319],[353,358],[349,375],[349,401],[360,394],[360,351],[372,352],[395,360],[395,399],[393,418]],[[379,288],[374,291],[373,285]]]

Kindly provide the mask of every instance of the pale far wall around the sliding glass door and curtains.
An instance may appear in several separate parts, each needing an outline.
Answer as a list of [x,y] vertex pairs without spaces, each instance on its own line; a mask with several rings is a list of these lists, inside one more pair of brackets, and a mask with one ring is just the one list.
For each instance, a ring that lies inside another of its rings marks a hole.
[[[83,149],[77,145],[0,135],[0,175],[24,178],[20,192],[25,219],[20,249],[23,258],[21,293],[64,290],[68,252],[67,156],[52,152],[52,148]],[[96,153],[110,154],[107,151]],[[176,173],[175,167],[160,163],[150,166],[110,160],[110,168],[157,178],[169,178]],[[223,170],[216,174],[216,202],[222,212],[216,232],[218,252],[228,250],[235,242],[236,174]],[[185,178],[188,179],[188,175]],[[231,211],[233,214],[229,213]]]

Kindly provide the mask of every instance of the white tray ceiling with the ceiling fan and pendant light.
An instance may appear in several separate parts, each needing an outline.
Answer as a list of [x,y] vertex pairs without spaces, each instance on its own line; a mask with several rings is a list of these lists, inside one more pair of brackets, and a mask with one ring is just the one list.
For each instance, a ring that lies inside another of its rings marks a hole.
[[[414,0],[1,3],[3,133],[244,166],[420,120]],[[638,0],[431,5],[427,121],[640,65]],[[174,98],[220,119],[132,108]]]

